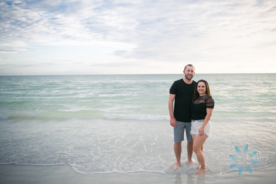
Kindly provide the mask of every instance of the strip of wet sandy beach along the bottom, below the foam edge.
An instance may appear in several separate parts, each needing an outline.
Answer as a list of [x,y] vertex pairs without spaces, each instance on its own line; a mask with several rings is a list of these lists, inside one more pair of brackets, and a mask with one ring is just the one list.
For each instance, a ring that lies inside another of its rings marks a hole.
[[239,175],[231,171],[220,176],[206,174],[160,174],[150,172],[79,174],[69,165],[61,166],[26,166],[0,165],[1,183],[275,183],[276,166],[258,169],[252,174]]

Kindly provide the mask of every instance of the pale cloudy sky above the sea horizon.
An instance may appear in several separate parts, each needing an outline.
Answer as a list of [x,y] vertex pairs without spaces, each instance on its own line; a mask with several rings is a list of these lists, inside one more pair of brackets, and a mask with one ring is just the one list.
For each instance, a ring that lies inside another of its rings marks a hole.
[[275,0],[0,1],[0,75],[276,73]]

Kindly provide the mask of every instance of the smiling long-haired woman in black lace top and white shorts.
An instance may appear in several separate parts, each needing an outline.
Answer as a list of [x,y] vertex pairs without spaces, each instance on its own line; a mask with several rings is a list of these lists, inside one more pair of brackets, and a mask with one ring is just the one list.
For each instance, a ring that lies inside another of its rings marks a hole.
[[196,171],[196,174],[202,174],[206,171],[203,144],[211,134],[210,117],[213,108],[214,100],[210,94],[209,85],[205,80],[199,80],[192,96],[192,127],[190,132],[193,136],[193,150],[200,164],[200,169]]

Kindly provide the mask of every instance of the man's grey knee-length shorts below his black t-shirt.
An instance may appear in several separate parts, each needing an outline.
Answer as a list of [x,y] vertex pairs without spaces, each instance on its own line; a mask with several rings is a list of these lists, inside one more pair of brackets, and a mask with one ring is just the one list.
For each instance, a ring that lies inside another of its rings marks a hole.
[[174,128],[174,142],[180,143],[182,140],[184,140],[185,129],[186,129],[187,140],[190,142],[193,142],[193,138],[190,133],[191,126],[192,126],[191,122],[184,123],[184,122],[176,121],[176,126]]

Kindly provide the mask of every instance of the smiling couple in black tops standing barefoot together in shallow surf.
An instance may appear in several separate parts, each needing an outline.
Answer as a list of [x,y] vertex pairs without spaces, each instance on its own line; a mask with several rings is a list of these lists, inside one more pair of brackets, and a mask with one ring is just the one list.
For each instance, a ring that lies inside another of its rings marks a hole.
[[[181,142],[184,140],[184,130],[187,137],[188,162],[192,166],[193,151],[197,155],[200,169],[196,174],[202,174],[205,169],[203,144],[211,134],[210,117],[214,108],[214,100],[210,94],[209,85],[205,80],[192,80],[194,66],[188,64],[184,68],[184,78],[173,83],[169,96],[170,124],[174,127],[174,153],[176,164],[181,165]],[[174,105],[173,105],[174,102]]]

